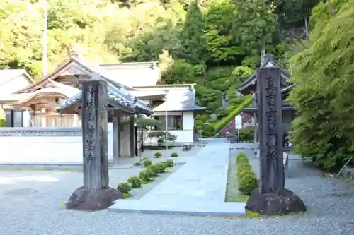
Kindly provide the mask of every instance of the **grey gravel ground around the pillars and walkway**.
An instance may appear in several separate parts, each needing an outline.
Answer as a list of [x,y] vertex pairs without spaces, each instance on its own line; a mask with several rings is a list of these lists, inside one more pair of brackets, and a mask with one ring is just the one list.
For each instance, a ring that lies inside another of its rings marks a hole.
[[[249,154],[249,150],[240,150]],[[252,152],[251,152],[252,153]],[[250,155],[253,156],[253,155]],[[251,161],[258,164],[257,159]],[[116,186],[139,168],[110,170]],[[60,205],[81,186],[82,174],[60,171],[0,171],[0,234],[181,234],[181,235],[312,235],[354,234],[354,187],[341,179],[322,178],[319,171],[290,162],[287,188],[309,207],[299,217],[222,219],[62,210]],[[22,190],[21,190],[22,188]],[[26,189],[27,188],[27,189]],[[37,190],[31,192],[30,188]],[[14,191],[17,190],[17,191]],[[343,191],[347,193],[343,194]]]

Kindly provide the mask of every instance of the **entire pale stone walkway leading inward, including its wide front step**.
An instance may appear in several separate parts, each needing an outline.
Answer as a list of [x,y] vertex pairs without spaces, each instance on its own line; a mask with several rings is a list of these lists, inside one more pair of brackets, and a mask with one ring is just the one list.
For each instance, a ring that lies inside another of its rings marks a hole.
[[110,212],[244,215],[244,203],[225,203],[229,143],[213,140],[140,200],[119,200]]

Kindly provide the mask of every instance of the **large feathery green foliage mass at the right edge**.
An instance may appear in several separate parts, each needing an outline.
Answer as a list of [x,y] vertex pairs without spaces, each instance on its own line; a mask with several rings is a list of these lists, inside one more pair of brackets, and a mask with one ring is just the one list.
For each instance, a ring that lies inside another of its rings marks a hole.
[[348,1],[336,17],[316,24],[310,47],[290,61],[292,79],[299,83],[288,97],[299,114],[290,133],[293,150],[329,170],[342,167],[354,150],[353,6]]

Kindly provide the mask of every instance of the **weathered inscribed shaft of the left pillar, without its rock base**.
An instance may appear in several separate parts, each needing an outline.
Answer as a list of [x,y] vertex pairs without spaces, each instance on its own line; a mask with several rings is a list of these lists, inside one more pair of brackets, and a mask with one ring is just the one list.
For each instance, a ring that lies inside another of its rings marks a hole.
[[107,83],[82,83],[82,142],[84,187],[108,188]]

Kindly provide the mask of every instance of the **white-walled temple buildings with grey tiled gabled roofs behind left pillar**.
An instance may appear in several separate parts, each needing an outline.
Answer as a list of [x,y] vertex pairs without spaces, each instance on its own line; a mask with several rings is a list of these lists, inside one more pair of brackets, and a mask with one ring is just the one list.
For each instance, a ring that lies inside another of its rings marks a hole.
[[[195,105],[194,84],[161,85],[161,71],[155,61],[99,65],[75,52],[38,82],[24,70],[0,71],[0,107],[6,112],[6,126],[81,126],[81,83],[93,75],[108,83],[108,133],[117,141],[113,129],[119,123],[122,145],[129,143],[125,148],[129,151],[120,155],[133,155],[137,145],[132,134],[133,116],[137,114],[159,119],[161,130],[167,126],[176,135],[176,143],[195,141],[195,113],[204,108]],[[147,144],[154,141],[144,139]]]

